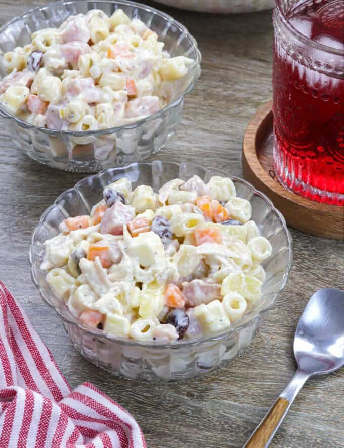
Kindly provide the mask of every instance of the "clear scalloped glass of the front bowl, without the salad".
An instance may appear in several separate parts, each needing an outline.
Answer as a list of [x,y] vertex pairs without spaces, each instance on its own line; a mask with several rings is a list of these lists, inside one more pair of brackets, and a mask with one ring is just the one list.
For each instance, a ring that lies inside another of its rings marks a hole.
[[[89,214],[93,204],[102,198],[104,187],[120,177],[130,178],[133,187],[144,183],[157,191],[171,179],[188,179],[194,174],[206,182],[213,175],[228,176],[233,180],[238,196],[250,201],[252,219],[273,247],[272,256],[263,262],[266,281],[261,300],[255,302],[255,307],[226,332],[171,343],[116,338],[81,324],[79,318],[51,291],[46,281],[47,273],[40,269],[44,256],[42,243],[59,234],[58,226],[63,219]],[[125,378],[185,380],[216,370],[239,356],[250,345],[263,316],[287,282],[292,260],[291,244],[291,236],[281,213],[263,193],[245,180],[195,163],[154,161],[108,169],[80,180],[74,188],[62,193],[43,213],[32,236],[29,259],[32,279],[42,299],[55,309],[71,343],[90,362]]]

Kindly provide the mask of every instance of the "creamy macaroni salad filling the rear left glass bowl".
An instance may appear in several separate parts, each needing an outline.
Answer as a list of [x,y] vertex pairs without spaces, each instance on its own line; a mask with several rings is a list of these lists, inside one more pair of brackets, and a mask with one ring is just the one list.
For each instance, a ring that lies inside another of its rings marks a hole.
[[3,55],[0,102],[21,120],[55,130],[121,126],[174,97],[192,59],[171,58],[156,32],[121,9],[69,17]]

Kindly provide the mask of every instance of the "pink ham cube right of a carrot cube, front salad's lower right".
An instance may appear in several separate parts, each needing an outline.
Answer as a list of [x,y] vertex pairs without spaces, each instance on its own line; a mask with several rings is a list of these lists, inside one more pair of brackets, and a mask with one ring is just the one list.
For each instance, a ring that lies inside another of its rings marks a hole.
[[197,307],[201,304],[221,299],[221,287],[216,283],[206,282],[204,280],[192,280],[183,283],[183,295],[185,304],[189,307]]

